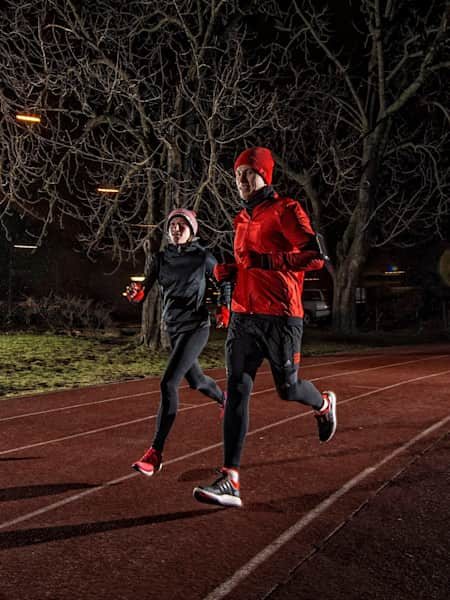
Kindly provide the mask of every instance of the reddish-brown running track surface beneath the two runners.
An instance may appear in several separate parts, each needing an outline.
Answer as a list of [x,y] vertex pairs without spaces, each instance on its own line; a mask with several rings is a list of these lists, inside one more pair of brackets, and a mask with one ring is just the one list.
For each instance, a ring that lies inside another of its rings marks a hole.
[[[223,378],[223,372],[210,372]],[[450,346],[304,361],[338,431],[258,374],[244,508],[195,502],[221,466],[218,410],[183,388],[163,470],[158,379],[0,402],[1,600],[444,600]]]

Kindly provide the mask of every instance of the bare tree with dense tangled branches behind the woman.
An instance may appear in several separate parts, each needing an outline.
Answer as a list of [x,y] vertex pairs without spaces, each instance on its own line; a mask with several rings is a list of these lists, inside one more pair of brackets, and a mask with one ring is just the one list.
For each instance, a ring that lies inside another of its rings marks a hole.
[[[272,103],[244,57],[252,34],[239,4],[7,0],[1,214],[39,219],[38,243],[51,223],[76,222],[88,256],[109,252],[120,263],[158,250],[164,215],[189,206],[216,252],[229,250],[226,163]],[[23,111],[41,124],[18,125]],[[118,192],[101,195],[101,186]],[[142,329],[154,344],[156,296]]]

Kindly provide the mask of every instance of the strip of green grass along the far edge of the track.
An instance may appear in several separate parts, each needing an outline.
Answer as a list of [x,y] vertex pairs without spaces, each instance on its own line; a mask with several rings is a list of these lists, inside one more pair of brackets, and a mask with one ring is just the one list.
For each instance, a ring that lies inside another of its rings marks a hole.
[[[224,366],[226,332],[211,330],[200,357],[203,368]],[[321,328],[305,332],[303,355],[363,352],[380,346],[424,343],[423,336],[364,335],[336,339]],[[437,341],[434,339],[433,341]],[[446,338],[448,341],[448,336]],[[70,337],[67,335],[0,334],[0,396],[32,394],[159,376],[167,352],[138,346],[135,337]]]

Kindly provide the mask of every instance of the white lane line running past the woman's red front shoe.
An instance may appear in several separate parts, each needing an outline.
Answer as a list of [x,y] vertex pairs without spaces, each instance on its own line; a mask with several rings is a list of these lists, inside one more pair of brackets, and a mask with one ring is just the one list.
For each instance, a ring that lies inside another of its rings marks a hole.
[[[423,379],[428,379],[430,377],[439,377],[440,375],[443,374],[448,374],[450,373],[450,370],[447,371],[441,371],[439,373],[432,373],[430,375],[423,375],[421,377],[416,377],[414,379],[407,379],[405,381],[400,381],[397,382],[393,385],[389,385],[386,387],[382,387],[379,388],[378,390],[373,390],[371,392],[367,392],[365,394],[361,394],[359,396],[352,396],[351,398],[347,398],[346,400],[343,400],[342,402],[340,402],[339,404],[347,404],[348,402],[351,402],[353,400],[357,400],[359,398],[363,398],[365,396],[371,396],[373,394],[376,394],[377,392],[382,392],[386,389],[391,389],[394,387],[400,387],[402,385],[408,385],[410,383],[414,383],[416,381],[421,381]],[[256,435],[258,433],[261,433],[262,431],[267,431],[269,429],[273,429],[274,427],[278,427],[279,425],[284,425],[285,423],[289,423],[290,421],[294,421],[295,419],[301,419],[304,418],[308,415],[311,415],[313,413],[313,411],[309,411],[307,413],[300,413],[298,415],[295,415],[293,417],[288,417],[286,419],[282,419],[280,421],[276,421],[275,423],[270,423],[269,425],[265,425],[264,427],[259,427],[258,429],[253,429],[251,431],[248,432],[247,437],[252,436],[252,435]],[[446,417],[444,419],[444,421],[447,421],[448,419],[450,419],[450,416]],[[184,454],[182,456],[178,456],[177,458],[173,458],[171,460],[167,460],[164,461],[165,465],[171,465],[171,464],[175,464],[177,462],[181,462],[182,460],[188,460],[194,456],[198,456],[200,454],[205,454],[206,452],[209,452],[210,450],[215,450],[217,448],[220,448],[222,446],[222,441],[216,443],[216,444],[211,444],[210,446],[206,446],[204,448],[201,448],[199,450],[194,450],[192,452],[189,452],[188,454]],[[42,508],[39,508],[37,510],[34,510],[30,513],[25,513],[24,515],[21,515],[20,517],[16,517],[15,519],[12,519],[10,521],[5,521],[4,523],[0,523],[0,529],[6,529],[7,527],[10,527],[12,525],[17,525],[18,523],[22,523],[23,521],[28,521],[29,519],[32,519],[33,517],[37,516],[37,515],[41,515],[47,512],[50,512],[52,510],[55,510],[61,506],[64,506],[66,504],[70,504],[71,502],[76,502],[77,500],[79,500],[80,498],[84,498],[85,496],[88,496],[90,494],[93,494],[95,492],[99,492],[101,490],[104,490],[112,485],[115,485],[117,483],[121,483],[123,481],[127,481],[128,479],[131,479],[132,477],[137,477],[139,475],[139,473],[130,473],[129,475],[124,475],[122,477],[119,477],[117,479],[112,479],[110,481],[107,481],[106,483],[103,483],[101,485],[98,485],[96,487],[90,488],[88,490],[85,490],[83,492],[80,492],[78,494],[74,494],[72,496],[68,496],[67,498],[65,498],[64,500],[60,500],[58,502],[54,502],[53,504],[48,504],[46,506],[43,506]]]

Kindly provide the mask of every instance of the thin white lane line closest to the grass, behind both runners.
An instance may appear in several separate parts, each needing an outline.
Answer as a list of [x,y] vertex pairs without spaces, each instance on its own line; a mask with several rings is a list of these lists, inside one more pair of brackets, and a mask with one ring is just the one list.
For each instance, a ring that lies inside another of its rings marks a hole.
[[[375,357],[379,357],[379,356],[383,356],[383,355],[375,355]],[[448,356],[447,354],[441,354],[438,356],[432,356],[432,357],[426,357],[426,358],[418,358],[412,361],[406,361],[406,362],[400,362],[400,363],[391,363],[391,364],[387,364],[387,365],[380,365],[378,367],[370,367],[368,369],[362,369],[362,370],[357,370],[357,371],[347,371],[346,373],[340,373],[340,374],[336,374],[336,377],[342,377],[343,375],[352,375],[353,373],[358,373],[358,372],[365,372],[366,370],[374,370],[374,369],[383,369],[383,368],[388,368],[391,366],[398,366],[398,365],[403,365],[403,364],[408,364],[410,362],[422,362],[424,360],[431,360],[434,358],[443,358],[444,356]],[[330,362],[325,362],[325,363],[316,363],[316,364],[312,364],[312,365],[306,365],[306,367],[304,368],[316,368],[316,367],[327,367],[329,365],[339,365],[342,363],[347,363],[347,362],[356,362],[357,360],[364,360],[365,358],[374,358],[374,355],[370,355],[370,356],[361,356],[361,357],[357,357],[357,358],[349,358],[346,360],[336,360],[336,361],[330,361]],[[270,370],[266,370],[266,371],[258,371],[258,375],[271,375],[272,372]],[[327,377],[332,377],[333,375],[328,375]],[[310,379],[310,381],[319,381],[320,379],[325,378],[325,376],[321,377],[321,378],[315,378],[315,379]],[[222,381],[226,381],[226,377],[221,377],[219,379],[216,379],[217,382],[222,382]],[[189,389],[188,385],[183,385],[180,386],[179,388],[180,390],[186,390]],[[271,389],[275,389],[275,388],[271,388]],[[267,390],[262,390],[260,392],[254,392],[255,394],[260,394],[260,393],[266,393]],[[12,415],[9,417],[0,417],[0,422],[4,422],[4,421],[12,421],[13,419],[22,419],[25,417],[34,417],[37,415],[46,415],[49,413],[55,413],[55,412],[62,412],[62,411],[66,411],[66,410],[71,410],[73,408],[82,408],[85,406],[95,406],[97,404],[104,404],[106,402],[115,402],[117,400],[127,400],[129,398],[137,398],[139,396],[151,396],[153,394],[159,394],[160,391],[159,389],[157,390],[149,390],[147,392],[136,392],[134,394],[128,394],[125,396],[113,396],[111,398],[105,398],[103,400],[95,400],[93,402],[80,402],[78,404],[69,404],[67,406],[61,406],[58,408],[49,408],[46,410],[40,410],[40,411],[34,411],[34,412],[29,412],[29,413],[24,413],[24,414],[20,414],[20,415]],[[28,396],[27,396],[28,397]],[[14,398],[13,398],[14,399]]]

